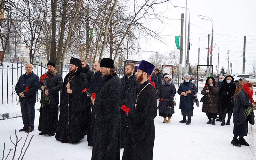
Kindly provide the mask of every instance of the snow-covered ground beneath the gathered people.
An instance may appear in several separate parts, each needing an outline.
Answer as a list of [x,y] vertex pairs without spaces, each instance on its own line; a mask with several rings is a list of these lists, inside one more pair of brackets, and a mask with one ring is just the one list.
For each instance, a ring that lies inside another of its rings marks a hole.
[[[204,83],[200,82],[198,99],[202,97],[200,94],[200,86]],[[254,88],[254,90],[256,90]],[[180,95],[175,95],[177,106],[175,106],[175,114],[173,114],[171,123],[162,123],[163,117],[157,116],[155,118],[155,144],[153,159],[256,159],[256,128],[254,125],[249,125],[248,136],[244,137],[250,144],[249,147],[242,146],[240,148],[230,144],[233,137],[233,118],[231,125],[220,126],[220,122],[216,121],[216,125],[206,124],[208,118],[205,113],[201,112],[202,103],[200,107],[194,109],[194,116],[191,124],[186,125],[179,123],[182,119],[181,111],[179,109]],[[254,99],[256,97],[254,96]],[[15,112],[20,112],[20,105],[15,106]],[[36,103],[36,108],[40,104]],[[31,132],[34,135],[30,146],[26,152],[24,159],[26,160],[89,160],[92,155],[92,147],[87,144],[86,138],[77,144],[65,144],[55,140],[54,136],[38,135],[38,120],[39,112],[36,110],[35,117],[35,131]],[[5,119],[0,121],[0,150],[4,148],[5,142],[5,156],[10,148],[14,148],[9,136],[14,140],[14,130],[19,130],[23,127],[22,118]],[[23,137],[20,141],[16,155],[20,154],[20,149],[26,138],[25,132],[18,132],[17,136]],[[31,137],[29,135],[29,137]],[[27,142],[28,143],[28,142]],[[23,149],[24,151],[24,149]],[[123,149],[121,149],[121,157]],[[11,152],[11,159],[13,150]],[[17,159],[17,157],[16,157]]]

